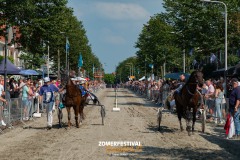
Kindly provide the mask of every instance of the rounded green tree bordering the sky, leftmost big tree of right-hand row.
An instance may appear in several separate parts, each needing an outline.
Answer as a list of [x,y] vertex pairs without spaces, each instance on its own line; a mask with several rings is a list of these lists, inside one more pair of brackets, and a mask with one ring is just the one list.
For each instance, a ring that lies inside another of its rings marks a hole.
[[[156,14],[144,25],[135,47],[137,51],[138,65],[143,72],[150,72],[149,64],[154,65],[154,74],[160,75],[160,68],[167,63],[168,70],[173,66],[179,66],[180,50],[174,46],[173,28],[166,22],[164,14]],[[177,57],[177,58],[176,58]]]

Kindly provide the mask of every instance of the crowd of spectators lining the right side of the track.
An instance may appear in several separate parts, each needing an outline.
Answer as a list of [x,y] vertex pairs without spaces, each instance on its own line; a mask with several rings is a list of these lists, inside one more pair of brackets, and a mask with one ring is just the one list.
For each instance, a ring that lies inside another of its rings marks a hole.
[[[181,89],[179,86],[183,85],[182,79],[184,78],[182,76],[184,75],[180,75],[179,80],[149,79],[128,81],[124,85],[157,105],[168,108],[173,112],[175,107],[173,94],[179,92],[179,88]],[[219,79],[207,79],[204,81],[203,87],[198,88],[198,90],[202,94],[205,106],[207,106],[207,122],[216,125],[227,125],[226,121],[229,113],[233,117],[235,137],[237,137],[240,134],[240,83],[236,78],[227,81],[229,83],[225,84],[222,77]],[[200,111],[198,113],[201,114]]]

